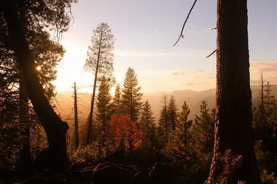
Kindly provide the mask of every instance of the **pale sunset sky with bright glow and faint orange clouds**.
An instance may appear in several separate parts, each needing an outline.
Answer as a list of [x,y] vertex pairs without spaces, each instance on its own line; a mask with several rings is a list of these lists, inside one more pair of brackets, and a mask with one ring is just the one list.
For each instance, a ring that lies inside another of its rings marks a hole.
[[[215,88],[216,0],[197,1],[175,47],[193,0],[79,0],[71,8],[75,23],[63,34],[66,54],[57,72],[58,91],[91,92],[93,76],[83,71],[92,31],[107,22],[116,38],[114,74],[123,83],[127,68],[138,74],[143,92]],[[251,83],[263,70],[277,81],[277,1],[249,0]]]

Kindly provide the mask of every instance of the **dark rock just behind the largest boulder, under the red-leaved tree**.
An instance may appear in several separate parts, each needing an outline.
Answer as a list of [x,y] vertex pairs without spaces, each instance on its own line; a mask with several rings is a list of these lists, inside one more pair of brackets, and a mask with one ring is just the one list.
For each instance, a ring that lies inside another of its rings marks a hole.
[[102,159],[101,163],[121,163],[125,165],[130,164],[130,156],[129,154],[125,154],[123,151],[115,151],[109,154],[107,157]]

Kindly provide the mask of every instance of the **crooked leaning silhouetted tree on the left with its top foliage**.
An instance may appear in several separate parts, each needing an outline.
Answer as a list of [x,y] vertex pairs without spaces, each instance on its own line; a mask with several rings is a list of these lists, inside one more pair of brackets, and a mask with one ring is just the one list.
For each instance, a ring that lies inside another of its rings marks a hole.
[[[77,1],[75,1],[77,2]],[[26,91],[33,104],[33,108],[47,134],[51,151],[51,170],[56,173],[69,174],[66,156],[66,131],[68,125],[57,116],[47,97],[43,85],[39,83],[39,75],[35,69],[35,57],[31,51],[26,36],[26,28],[42,30],[56,28],[56,32],[68,29],[70,17],[65,13],[73,0],[63,1],[1,1],[1,18],[5,21],[7,32],[1,37],[4,45],[15,52],[16,62],[24,76]],[[26,14],[23,11],[27,11]],[[25,16],[25,17],[24,17]],[[8,33],[8,34],[5,34]]]

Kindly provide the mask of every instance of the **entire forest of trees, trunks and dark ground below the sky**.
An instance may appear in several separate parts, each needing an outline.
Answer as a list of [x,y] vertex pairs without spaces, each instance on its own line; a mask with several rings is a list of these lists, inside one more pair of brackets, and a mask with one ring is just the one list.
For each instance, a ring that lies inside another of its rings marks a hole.
[[83,66],[93,79],[88,114],[74,83],[72,112],[61,115],[53,81],[75,3],[0,0],[0,183],[277,183],[276,86],[260,71],[253,97],[247,0],[217,0],[215,108],[203,100],[193,114],[164,92],[159,117],[132,65],[116,81],[104,22]]

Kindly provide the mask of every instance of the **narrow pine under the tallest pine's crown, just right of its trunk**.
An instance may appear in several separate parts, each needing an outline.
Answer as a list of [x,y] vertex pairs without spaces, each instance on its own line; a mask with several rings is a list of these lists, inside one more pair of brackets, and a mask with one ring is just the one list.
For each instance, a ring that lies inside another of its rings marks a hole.
[[105,147],[105,142],[107,141],[107,125],[111,119],[111,81],[107,79],[105,76],[102,76],[102,79],[100,81],[101,83],[99,86],[96,102],[96,120],[98,121],[98,123],[100,123],[101,136],[99,138],[102,140],[102,146]]

